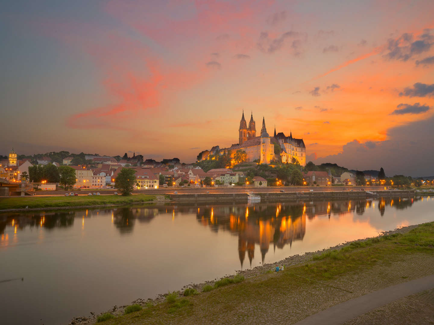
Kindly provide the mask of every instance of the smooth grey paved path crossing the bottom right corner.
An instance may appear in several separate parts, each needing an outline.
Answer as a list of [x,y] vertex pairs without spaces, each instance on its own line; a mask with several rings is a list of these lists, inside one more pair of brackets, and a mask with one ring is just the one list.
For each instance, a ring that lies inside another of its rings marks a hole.
[[318,312],[296,325],[338,325],[397,299],[434,288],[434,275],[396,284]]

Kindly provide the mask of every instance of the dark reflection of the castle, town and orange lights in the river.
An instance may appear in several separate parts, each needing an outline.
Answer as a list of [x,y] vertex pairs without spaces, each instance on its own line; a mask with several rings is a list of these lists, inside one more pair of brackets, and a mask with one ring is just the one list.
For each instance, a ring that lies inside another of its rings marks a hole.
[[[429,200],[426,197],[425,200]],[[178,204],[152,208],[122,207],[110,209],[87,209],[76,211],[29,212],[0,215],[0,240],[7,242],[10,234],[5,234],[6,227],[13,227],[13,235],[19,234],[26,227],[43,228],[52,231],[54,228],[67,228],[74,224],[75,218],[81,218],[82,229],[85,219],[111,214],[111,222],[122,235],[132,234],[135,223],[149,223],[158,214],[170,215],[172,220],[179,214],[194,214],[197,221],[209,227],[211,231],[229,231],[238,236],[238,254],[243,267],[246,253],[250,266],[255,255],[255,245],[261,252],[264,262],[266,253],[273,245],[282,249],[291,247],[293,241],[303,240],[306,234],[306,218],[332,215],[352,214],[353,220],[363,221],[363,214],[368,209],[377,208],[381,217],[386,209],[402,210],[411,207],[415,202],[423,201],[421,196],[377,198],[344,201],[287,201],[280,203],[266,202],[253,205],[237,204]],[[431,198],[432,200],[432,198]]]

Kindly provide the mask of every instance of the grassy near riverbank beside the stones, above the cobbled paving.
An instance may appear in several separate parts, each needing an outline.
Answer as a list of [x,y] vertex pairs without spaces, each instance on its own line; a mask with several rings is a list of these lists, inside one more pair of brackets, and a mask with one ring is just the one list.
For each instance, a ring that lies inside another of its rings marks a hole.
[[[348,279],[356,281],[358,277],[363,278],[374,267],[386,266],[387,270],[395,272],[397,268],[402,267],[398,266],[400,261],[405,259],[410,262],[408,265],[413,265],[414,261],[421,258],[425,261],[432,261],[434,258],[434,222],[422,224],[405,234],[355,241],[340,250],[318,254],[308,263],[286,266],[285,270],[280,272],[264,270],[263,274],[232,283],[221,279],[215,282],[214,286],[204,286],[202,293],[189,296],[188,300],[178,298],[177,293],[172,293],[173,297],[166,299],[166,302],[131,315],[109,319],[105,324],[245,324],[253,319],[258,320],[256,312],[252,314],[246,311],[260,312],[260,309],[268,308],[266,306],[269,306],[270,302],[274,305],[278,301],[288,302],[295,297],[303,296],[309,297],[309,301],[317,299],[322,302],[324,293],[330,291],[323,291],[327,286],[332,286],[333,290],[338,290],[335,292],[341,292],[341,295],[342,292],[352,294],[352,283],[346,282]],[[388,274],[390,273],[386,272],[375,276]],[[415,276],[411,273],[401,275],[399,278],[402,281],[407,276]],[[333,286],[336,280],[341,278],[345,279],[340,285],[342,288]],[[354,296],[348,296],[346,299],[351,297]],[[240,309],[240,306],[243,307]],[[304,311],[303,315],[309,315],[314,309],[306,310],[308,313]]]

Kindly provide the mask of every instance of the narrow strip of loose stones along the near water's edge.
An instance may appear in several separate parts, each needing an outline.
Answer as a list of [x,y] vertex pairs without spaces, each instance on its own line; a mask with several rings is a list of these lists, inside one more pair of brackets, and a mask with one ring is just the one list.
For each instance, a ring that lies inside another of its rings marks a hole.
[[[414,224],[414,225],[410,225],[410,226],[406,226],[406,227],[401,227],[401,228],[397,228],[395,230],[391,230],[391,231],[383,231],[381,232],[380,235],[378,235],[377,237],[381,237],[381,236],[385,236],[385,235],[390,235],[390,234],[404,234],[407,233],[408,231],[411,231],[411,229],[414,229],[415,227],[418,227],[419,224]],[[370,237],[372,238],[372,237]],[[290,257],[286,257],[283,260],[279,260],[277,262],[274,263],[266,263],[262,266],[256,266],[253,269],[248,269],[248,270],[238,270],[237,274],[241,274],[244,276],[245,279],[248,278],[252,278],[255,276],[259,276],[262,275],[270,270],[274,270],[275,265],[284,265],[286,266],[293,266],[293,265],[297,265],[297,264],[301,264],[301,263],[307,263],[312,261],[313,256],[321,254],[321,253],[325,253],[329,250],[337,250],[337,249],[341,249],[344,246],[347,246],[353,242],[360,242],[360,241],[365,241],[368,240],[369,238],[363,238],[363,239],[357,239],[357,240],[352,240],[352,241],[348,241],[342,244],[338,244],[335,245],[333,247],[329,247],[329,248],[324,248],[322,250],[317,250],[315,252],[306,252],[302,255],[293,255]],[[229,277],[229,276],[233,276],[230,274],[225,274],[223,277]],[[216,280],[219,279],[214,279],[214,280],[209,280],[209,281],[205,281],[203,283],[191,283],[189,285],[183,286],[182,289],[179,290],[179,292],[182,294],[182,292],[187,289],[187,288],[193,288],[196,289],[198,292],[202,292],[202,288],[206,285],[210,285],[213,284]],[[154,305],[164,302],[165,300],[165,296],[166,294],[159,294],[158,296],[154,297],[154,298],[148,298],[148,299],[136,299],[134,301],[131,302],[131,304],[139,304],[141,306],[145,306],[146,303],[151,302]],[[110,312],[113,315],[122,315],[124,312],[124,308],[125,306],[113,306],[111,309],[105,311],[105,312]],[[96,314],[95,312],[90,312],[90,316],[86,317],[86,316],[81,316],[81,317],[76,317],[73,318],[71,320],[71,322],[69,322],[69,325],[90,325],[90,324],[95,324],[96,323],[96,319],[99,315],[104,314],[105,312],[100,312],[98,314]]]

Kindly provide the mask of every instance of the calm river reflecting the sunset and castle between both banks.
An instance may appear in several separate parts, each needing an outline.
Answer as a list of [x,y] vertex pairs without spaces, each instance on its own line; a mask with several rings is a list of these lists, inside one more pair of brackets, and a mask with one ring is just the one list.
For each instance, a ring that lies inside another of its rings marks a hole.
[[67,324],[433,211],[418,197],[0,214],[0,323]]

